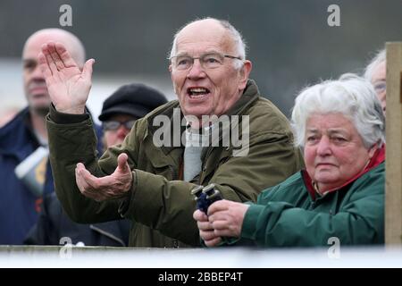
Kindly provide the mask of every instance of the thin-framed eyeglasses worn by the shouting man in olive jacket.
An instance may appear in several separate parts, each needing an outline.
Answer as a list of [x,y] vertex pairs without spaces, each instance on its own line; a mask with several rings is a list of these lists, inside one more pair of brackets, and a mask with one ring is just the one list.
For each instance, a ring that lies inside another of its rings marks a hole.
[[194,64],[194,60],[198,59],[199,63],[205,70],[212,70],[219,68],[223,64],[224,58],[236,59],[241,61],[241,57],[234,55],[222,55],[220,53],[206,53],[197,57],[189,55],[175,55],[169,60],[175,70],[186,71]]

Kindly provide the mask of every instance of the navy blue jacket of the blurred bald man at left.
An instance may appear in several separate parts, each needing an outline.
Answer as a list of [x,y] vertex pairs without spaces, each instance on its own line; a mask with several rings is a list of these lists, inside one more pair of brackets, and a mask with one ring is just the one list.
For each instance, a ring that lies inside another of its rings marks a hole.
[[[102,130],[96,126],[96,136]],[[99,140],[100,141],[100,140]],[[0,244],[22,244],[37,222],[42,203],[14,173],[15,167],[39,147],[29,120],[28,107],[0,129]],[[97,146],[101,151],[100,142]],[[52,170],[46,164],[43,194],[54,191]]]

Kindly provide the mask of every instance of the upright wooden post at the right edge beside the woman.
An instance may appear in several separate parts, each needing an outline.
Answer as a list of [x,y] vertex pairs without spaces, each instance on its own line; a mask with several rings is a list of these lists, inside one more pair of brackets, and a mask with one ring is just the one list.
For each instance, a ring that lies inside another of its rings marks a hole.
[[402,245],[402,43],[387,43],[385,243]]

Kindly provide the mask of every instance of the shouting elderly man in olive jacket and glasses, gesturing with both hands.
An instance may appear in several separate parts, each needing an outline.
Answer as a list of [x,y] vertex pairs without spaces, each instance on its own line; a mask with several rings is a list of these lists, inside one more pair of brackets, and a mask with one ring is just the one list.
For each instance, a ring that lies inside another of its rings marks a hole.
[[[99,161],[84,111],[94,60],[81,72],[66,48],[54,42],[43,46],[38,58],[53,102],[47,128],[58,197],[78,222],[130,218],[130,246],[199,246],[191,189],[214,182],[223,198],[255,200],[260,189],[301,167],[289,122],[248,80],[251,63],[245,45],[227,21],[193,21],[180,29],[169,66],[179,101],[138,120],[121,147],[109,148]],[[178,114],[184,115],[186,128],[180,128]],[[234,156],[232,145],[222,146],[222,133],[214,141],[218,144],[204,145],[205,134],[219,124],[205,120],[205,115],[225,114],[240,117],[234,125],[241,125],[241,136],[248,137],[244,156]],[[172,145],[160,146],[155,125],[166,118],[172,132],[165,129],[163,137],[172,137],[166,140]],[[180,130],[179,140],[174,130]],[[185,144],[180,144],[181,138]],[[198,139],[201,147],[187,144]]]

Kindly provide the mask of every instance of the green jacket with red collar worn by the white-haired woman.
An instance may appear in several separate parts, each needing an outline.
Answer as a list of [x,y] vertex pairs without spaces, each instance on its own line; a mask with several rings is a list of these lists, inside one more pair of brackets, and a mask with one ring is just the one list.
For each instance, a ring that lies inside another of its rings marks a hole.
[[306,171],[297,172],[249,206],[241,238],[261,247],[383,244],[384,189],[383,148],[363,174],[323,197]]

